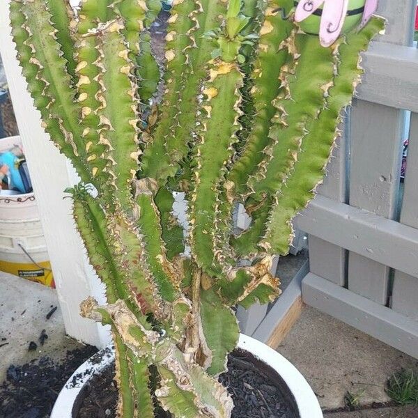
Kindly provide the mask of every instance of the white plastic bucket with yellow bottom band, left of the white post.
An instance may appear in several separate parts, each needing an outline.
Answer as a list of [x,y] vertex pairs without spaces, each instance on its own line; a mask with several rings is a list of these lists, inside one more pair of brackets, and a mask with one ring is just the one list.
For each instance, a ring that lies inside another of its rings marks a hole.
[[[0,139],[0,153],[20,137]],[[47,245],[33,193],[0,193],[0,270],[54,286]]]

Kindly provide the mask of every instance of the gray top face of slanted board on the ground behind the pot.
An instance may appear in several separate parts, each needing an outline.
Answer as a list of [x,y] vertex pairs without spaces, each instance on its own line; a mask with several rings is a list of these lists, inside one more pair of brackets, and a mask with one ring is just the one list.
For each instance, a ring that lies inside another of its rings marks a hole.
[[291,283],[288,284],[287,288],[284,290],[277,302],[274,303],[267,316],[265,316],[261,324],[258,325],[257,329],[252,334],[255,339],[258,339],[258,341],[262,341],[263,343],[267,343],[270,340],[277,324],[281,323],[297,298],[300,297],[302,279],[308,273],[309,262],[306,261],[295,277],[293,277]]

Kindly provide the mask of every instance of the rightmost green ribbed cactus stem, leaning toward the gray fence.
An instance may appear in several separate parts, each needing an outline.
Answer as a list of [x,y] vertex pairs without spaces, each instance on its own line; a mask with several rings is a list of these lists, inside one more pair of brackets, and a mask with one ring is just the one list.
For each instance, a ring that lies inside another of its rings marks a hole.
[[359,66],[359,51],[366,50],[376,33],[383,31],[384,21],[374,17],[359,33],[350,33],[338,45],[335,57],[335,76],[328,92],[325,107],[318,118],[307,127],[302,141],[302,152],[295,162],[293,172],[285,180],[277,196],[268,231],[261,247],[277,254],[286,254],[291,243],[293,227],[291,219],[314,198],[315,189],[321,182],[336,137],[339,136],[340,112],[350,104],[355,86],[360,82],[362,68]]

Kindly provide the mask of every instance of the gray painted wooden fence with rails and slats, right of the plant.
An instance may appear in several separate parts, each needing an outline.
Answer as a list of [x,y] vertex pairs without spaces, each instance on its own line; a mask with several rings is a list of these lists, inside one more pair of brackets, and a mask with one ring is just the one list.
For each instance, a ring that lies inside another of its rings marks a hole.
[[345,137],[320,194],[295,224],[309,234],[303,301],[418,357],[416,7],[417,0],[380,1],[387,33],[364,56]]

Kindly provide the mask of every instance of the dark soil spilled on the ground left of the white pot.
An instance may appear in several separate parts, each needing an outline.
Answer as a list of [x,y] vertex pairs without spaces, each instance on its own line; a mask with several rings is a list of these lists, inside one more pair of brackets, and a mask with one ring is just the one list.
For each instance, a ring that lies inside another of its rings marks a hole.
[[10,364],[0,385],[0,418],[49,417],[65,382],[96,352],[84,346],[68,351],[60,362],[41,357],[22,366]]

